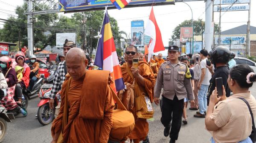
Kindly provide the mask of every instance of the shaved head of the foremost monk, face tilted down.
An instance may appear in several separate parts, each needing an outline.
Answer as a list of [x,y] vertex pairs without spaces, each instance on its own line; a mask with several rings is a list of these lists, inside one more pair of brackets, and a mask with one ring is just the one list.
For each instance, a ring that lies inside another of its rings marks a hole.
[[67,72],[74,80],[79,80],[86,72],[88,60],[80,48],[72,48],[66,54]]

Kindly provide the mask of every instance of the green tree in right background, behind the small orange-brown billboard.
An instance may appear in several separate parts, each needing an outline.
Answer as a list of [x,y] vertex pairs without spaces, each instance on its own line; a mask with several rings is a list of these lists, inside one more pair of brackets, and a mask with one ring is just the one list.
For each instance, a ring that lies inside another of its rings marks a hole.
[[[178,26],[175,27],[175,29],[172,31],[172,41],[175,41],[176,39],[180,38],[180,27],[189,27],[191,26],[191,20],[185,20],[182,23],[180,23]],[[202,35],[202,29],[205,28],[205,22],[202,21],[202,19],[194,20],[193,21],[194,26],[194,35]],[[215,34],[219,31],[218,24],[214,24],[214,31]]]

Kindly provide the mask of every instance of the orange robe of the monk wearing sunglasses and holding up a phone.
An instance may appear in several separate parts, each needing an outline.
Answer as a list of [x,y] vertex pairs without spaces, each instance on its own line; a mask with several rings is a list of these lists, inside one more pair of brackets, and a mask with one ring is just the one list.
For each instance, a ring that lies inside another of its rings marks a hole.
[[[127,82],[130,84],[133,84],[134,79],[132,79],[131,76],[128,74],[127,67],[128,67],[128,63],[125,63],[121,66],[123,80],[125,83]],[[131,69],[131,67],[129,68]],[[139,62],[139,69],[140,69],[140,75],[144,77],[145,87],[139,85],[139,87],[135,87],[135,88],[145,88],[145,91],[147,92],[145,93],[145,95],[148,96],[150,100],[153,100],[152,88],[154,87],[154,83],[155,83],[154,73],[150,69],[150,66],[148,65],[148,63],[145,63],[145,62]],[[127,91],[125,91],[122,98],[122,102],[124,104],[125,104],[126,95],[127,95]],[[146,119],[137,118],[135,107],[136,107],[136,104],[134,103],[134,107],[132,109],[129,109],[129,111],[132,112],[135,118],[135,128],[128,137],[131,140],[133,140],[134,143],[139,143],[141,140],[145,140],[145,137],[148,134],[148,122]]]

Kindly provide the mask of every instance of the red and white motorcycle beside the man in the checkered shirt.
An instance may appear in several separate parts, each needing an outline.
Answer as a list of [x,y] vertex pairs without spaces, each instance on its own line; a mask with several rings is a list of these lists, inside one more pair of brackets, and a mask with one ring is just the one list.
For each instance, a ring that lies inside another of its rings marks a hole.
[[[50,109],[49,107],[49,101],[50,101],[50,92],[52,90],[52,83],[53,83],[54,75],[50,75],[44,82],[44,84],[41,86],[40,92],[38,94],[38,97],[41,99],[38,103],[38,121],[42,125],[47,125],[52,122],[55,115],[55,109]],[[55,106],[58,106],[60,100],[60,92],[58,92],[55,96]]]

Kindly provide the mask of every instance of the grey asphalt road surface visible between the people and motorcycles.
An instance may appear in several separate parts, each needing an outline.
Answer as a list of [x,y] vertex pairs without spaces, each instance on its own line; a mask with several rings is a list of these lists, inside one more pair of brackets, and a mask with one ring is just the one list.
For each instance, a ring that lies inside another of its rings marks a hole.
[[[250,91],[256,97],[256,84]],[[19,114],[12,123],[7,123],[7,134],[2,143],[50,143],[51,124],[42,126],[35,117],[38,102],[37,97],[29,100],[28,116],[23,117]],[[153,107],[154,121],[148,121],[150,143],[169,143],[169,137],[163,136],[164,127],[160,122],[160,107],[155,104]],[[187,109],[188,124],[182,124],[176,143],[210,143],[211,134],[204,128],[204,118],[195,118],[193,114],[195,111]]]

